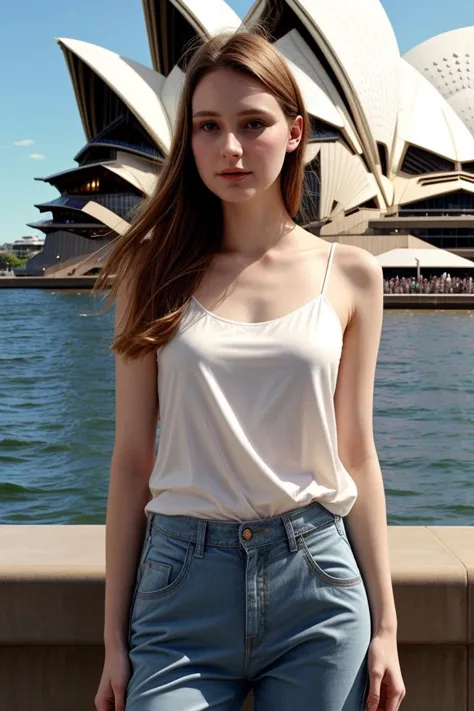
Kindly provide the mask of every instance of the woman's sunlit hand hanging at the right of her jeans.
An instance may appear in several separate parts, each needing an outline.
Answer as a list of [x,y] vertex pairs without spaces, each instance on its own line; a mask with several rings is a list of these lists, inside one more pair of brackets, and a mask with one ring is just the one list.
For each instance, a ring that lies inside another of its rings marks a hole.
[[370,689],[365,711],[397,711],[406,690],[398,661],[397,635],[375,635],[369,647]]

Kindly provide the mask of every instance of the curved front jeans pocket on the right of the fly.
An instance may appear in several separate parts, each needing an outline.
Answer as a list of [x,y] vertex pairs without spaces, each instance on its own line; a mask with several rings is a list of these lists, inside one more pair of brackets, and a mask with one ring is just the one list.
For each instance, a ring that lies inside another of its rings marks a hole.
[[362,576],[354,553],[334,521],[298,536],[298,545],[310,570],[335,587],[360,585]]

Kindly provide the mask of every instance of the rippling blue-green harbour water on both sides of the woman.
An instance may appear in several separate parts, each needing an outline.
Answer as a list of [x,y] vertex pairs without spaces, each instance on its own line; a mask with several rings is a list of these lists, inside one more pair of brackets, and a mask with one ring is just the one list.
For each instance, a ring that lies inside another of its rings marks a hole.
[[[114,309],[0,292],[0,524],[103,524]],[[474,524],[474,311],[385,311],[374,434],[390,525]]]

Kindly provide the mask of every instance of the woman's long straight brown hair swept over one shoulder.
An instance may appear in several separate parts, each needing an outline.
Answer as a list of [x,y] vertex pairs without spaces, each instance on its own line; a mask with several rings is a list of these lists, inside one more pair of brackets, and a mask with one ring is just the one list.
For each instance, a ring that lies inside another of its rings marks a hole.
[[156,189],[144,200],[130,228],[118,237],[93,292],[105,290],[113,276],[110,308],[121,284],[128,287],[127,313],[111,350],[128,359],[164,346],[222,241],[222,204],[202,182],[195,165],[191,101],[199,81],[219,68],[259,80],[279,102],[287,119],[303,116],[298,148],[286,154],[281,191],[294,217],[300,207],[304,152],[309,121],[298,85],[278,51],[259,33],[221,33],[192,55],[186,68],[169,156]]

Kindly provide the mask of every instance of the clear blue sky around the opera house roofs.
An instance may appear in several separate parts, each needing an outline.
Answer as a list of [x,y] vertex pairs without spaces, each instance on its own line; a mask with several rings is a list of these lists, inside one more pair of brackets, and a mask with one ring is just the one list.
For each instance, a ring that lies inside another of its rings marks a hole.
[[[212,0],[202,0],[212,2]],[[327,0],[332,2],[332,0]],[[474,25],[472,0],[382,0],[401,53],[440,32]],[[251,0],[228,0],[243,15]],[[71,168],[85,138],[55,37],[93,42],[150,64],[141,0],[21,0],[0,23],[0,244],[35,233],[35,203],[57,197],[34,177]],[[14,145],[20,143],[21,145]],[[38,233],[41,234],[41,233]]]

